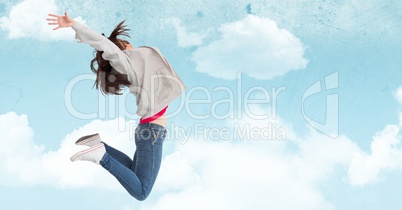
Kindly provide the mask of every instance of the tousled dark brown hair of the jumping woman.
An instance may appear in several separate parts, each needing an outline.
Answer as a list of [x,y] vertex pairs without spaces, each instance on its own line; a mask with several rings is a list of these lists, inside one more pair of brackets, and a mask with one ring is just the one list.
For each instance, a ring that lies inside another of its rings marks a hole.
[[[119,39],[118,36],[130,38],[130,35],[127,33],[130,29],[127,29],[126,25],[123,25],[124,22],[125,20],[120,22],[108,37],[120,50],[126,49],[129,42]],[[104,34],[102,35],[105,36]],[[96,89],[99,89],[100,86],[100,90],[103,94],[121,95],[123,87],[131,84],[127,75],[121,74],[113,69],[109,61],[103,59],[103,51],[95,50],[94,53],[96,53],[95,58],[91,60],[91,70],[96,74],[94,86]]]

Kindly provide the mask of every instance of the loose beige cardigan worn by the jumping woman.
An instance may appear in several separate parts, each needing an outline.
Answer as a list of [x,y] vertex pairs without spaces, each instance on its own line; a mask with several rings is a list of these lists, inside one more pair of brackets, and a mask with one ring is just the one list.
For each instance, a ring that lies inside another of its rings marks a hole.
[[128,75],[131,93],[136,97],[137,115],[150,117],[181,96],[187,88],[158,48],[139,47],[120,50],[108,38],[88,26],[75,22],[75,38],[98,51],[118,72]]

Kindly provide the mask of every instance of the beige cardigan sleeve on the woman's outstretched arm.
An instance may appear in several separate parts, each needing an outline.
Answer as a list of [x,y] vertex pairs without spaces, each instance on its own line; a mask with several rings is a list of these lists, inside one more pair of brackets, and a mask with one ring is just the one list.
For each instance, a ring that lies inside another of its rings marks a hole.
[[72,28],[76,32],[75,38],[80,42],[85,42],[96,50],[103,51],[103,59],[108,60],[116,71],[121,74],[130,74],[128,72],[130,69],[128,56],[107,37],[78,21],[74,23]]

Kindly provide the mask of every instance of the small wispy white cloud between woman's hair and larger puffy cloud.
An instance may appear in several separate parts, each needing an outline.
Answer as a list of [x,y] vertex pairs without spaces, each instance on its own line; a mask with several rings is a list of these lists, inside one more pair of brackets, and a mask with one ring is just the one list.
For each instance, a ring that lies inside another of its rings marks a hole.
[[191,47],[199,46],[203,44],[203,39],[207,36],[207,33],[198,34],[195,32],[187,32],[187,29],[181,25],[181,21],[178,18],[169,18],[162,21],[163,24],[171,24],[174,26],[177,32],[177,41],[179,47]]

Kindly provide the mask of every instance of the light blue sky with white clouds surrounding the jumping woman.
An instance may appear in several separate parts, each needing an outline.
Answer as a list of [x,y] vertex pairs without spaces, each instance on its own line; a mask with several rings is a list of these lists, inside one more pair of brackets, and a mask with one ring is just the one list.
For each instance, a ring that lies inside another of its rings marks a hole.
[[[131,156],[138,116],[133,96],[92,88],[93,50],[72,29],[46,25],[64,11],[105,34],[126,19],[130,42],[160,48],[188,87],[168,109],[146,202],[102,168],[68,160],[82,149],[73,142],[94,132]],[[398,209],[401,11],[392,0],[0,0],[0,205]],[[230,134],[215,138],[213,128]],[[269,134],[235,139],[247,128]]]

